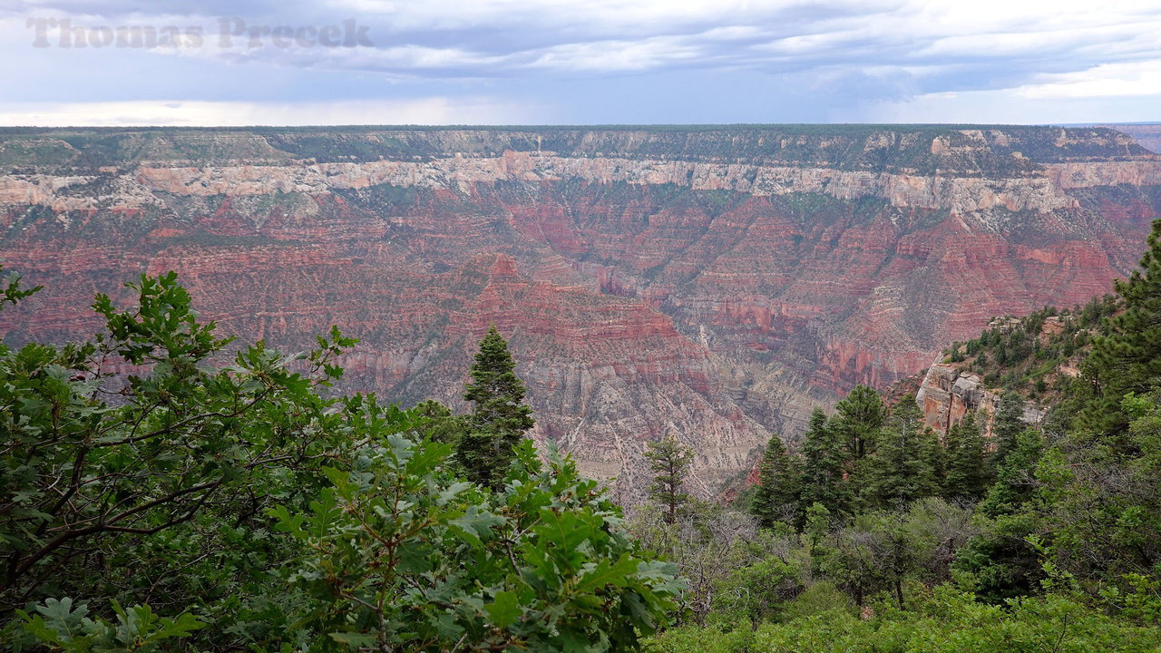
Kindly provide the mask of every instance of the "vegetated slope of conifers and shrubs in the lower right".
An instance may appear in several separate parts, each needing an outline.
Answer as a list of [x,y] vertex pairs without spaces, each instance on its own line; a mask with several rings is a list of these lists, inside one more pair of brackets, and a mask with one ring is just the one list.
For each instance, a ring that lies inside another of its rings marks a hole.
[[[940,442],[909,397],[856,388],[799,451],[772,439],[750,515],[637,510],[633,532],[691,579],[654,650],[1161,650],[1161,221],[1148,245],[1116,296],[953,347],[1010,386],[990,419]],[[1037,392],[1045,432],[1022,422]]]

